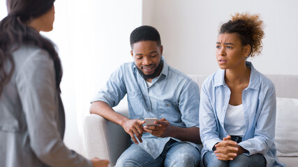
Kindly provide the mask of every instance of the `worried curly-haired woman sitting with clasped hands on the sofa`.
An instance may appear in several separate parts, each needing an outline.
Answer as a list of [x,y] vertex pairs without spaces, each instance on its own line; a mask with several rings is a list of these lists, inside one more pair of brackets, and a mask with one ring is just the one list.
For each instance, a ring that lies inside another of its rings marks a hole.
[[246,61],[260,54],[262,38],[259,15],[237,13],[219,30],[221,70],[204,81],[200,101],[204,166],[283,166],[274,144],[274,84]]

